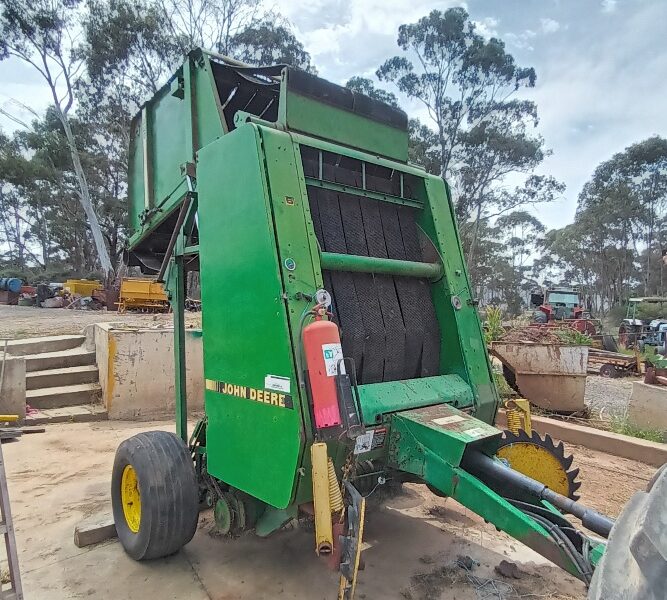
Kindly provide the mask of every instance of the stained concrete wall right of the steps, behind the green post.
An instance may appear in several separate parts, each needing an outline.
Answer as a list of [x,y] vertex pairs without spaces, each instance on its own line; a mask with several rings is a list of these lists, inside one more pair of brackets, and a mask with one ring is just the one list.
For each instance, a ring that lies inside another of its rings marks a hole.
[[[173,418],[174,330],[133,328],[114,323],[94,327],[102,402],[109,419]],[[204,357],[201,330],[185,332],[188,410],[204,408]]]

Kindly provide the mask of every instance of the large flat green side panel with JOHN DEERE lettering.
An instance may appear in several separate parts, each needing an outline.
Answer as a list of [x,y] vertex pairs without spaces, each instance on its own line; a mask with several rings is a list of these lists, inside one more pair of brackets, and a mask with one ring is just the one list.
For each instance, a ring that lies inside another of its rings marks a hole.
[[[206,451],[211,475],[284,508],[303,434],[261,152],[247,125],[199,153]],[[292,407],[257,399],[267,375],[289,378]]]

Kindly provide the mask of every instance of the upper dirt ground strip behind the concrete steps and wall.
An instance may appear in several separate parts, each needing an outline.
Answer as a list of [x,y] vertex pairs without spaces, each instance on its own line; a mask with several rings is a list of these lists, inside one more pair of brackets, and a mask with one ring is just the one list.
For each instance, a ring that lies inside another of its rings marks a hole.
[[[141,327],[164,327],[172,324],[169,313],[125,313],[67,308],[35,308],[0,304],[0,337],[22,339],[44,335],[81,333],[93,323],[121,322]],[[201,313],[186,313],[188,327],[201,325]]]

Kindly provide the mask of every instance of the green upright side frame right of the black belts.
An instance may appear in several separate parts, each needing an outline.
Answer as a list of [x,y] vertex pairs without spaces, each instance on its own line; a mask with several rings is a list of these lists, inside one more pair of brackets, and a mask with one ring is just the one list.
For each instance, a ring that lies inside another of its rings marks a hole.
[[471,295],[468,270],[456,227],[456,215],[446,184],[426,178],[429,210],[419,225],[434,243],[443,262],[443,277],[432,286],[441,326],[441,370],[463,377],[475,393],[475,416],[493,423],[499,397],[493,383],[484,334]]

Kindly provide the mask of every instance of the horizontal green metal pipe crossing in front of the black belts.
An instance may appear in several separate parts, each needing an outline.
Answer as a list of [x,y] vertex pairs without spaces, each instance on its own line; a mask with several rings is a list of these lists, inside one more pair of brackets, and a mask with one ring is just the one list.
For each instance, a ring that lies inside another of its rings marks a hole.
[[398,275],[402,277],[420,277],[432,281],[442,277],[442,265],[440,263],[423,263],[412,260],[359,256],[357,254],[321,252],[320,264],[322,269],[329,271],[351,271],[354,273],[378,273],[384,275]]

